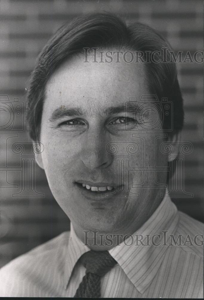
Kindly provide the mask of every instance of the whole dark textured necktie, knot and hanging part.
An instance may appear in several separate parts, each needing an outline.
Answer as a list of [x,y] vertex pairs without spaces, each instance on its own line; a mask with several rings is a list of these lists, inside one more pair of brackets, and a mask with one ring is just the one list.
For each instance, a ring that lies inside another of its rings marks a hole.
[[99,298],[101,296],[101,278],[117,263],[108,251],[88,251],[84,253],[80,262],[86,268],[74,297]]

